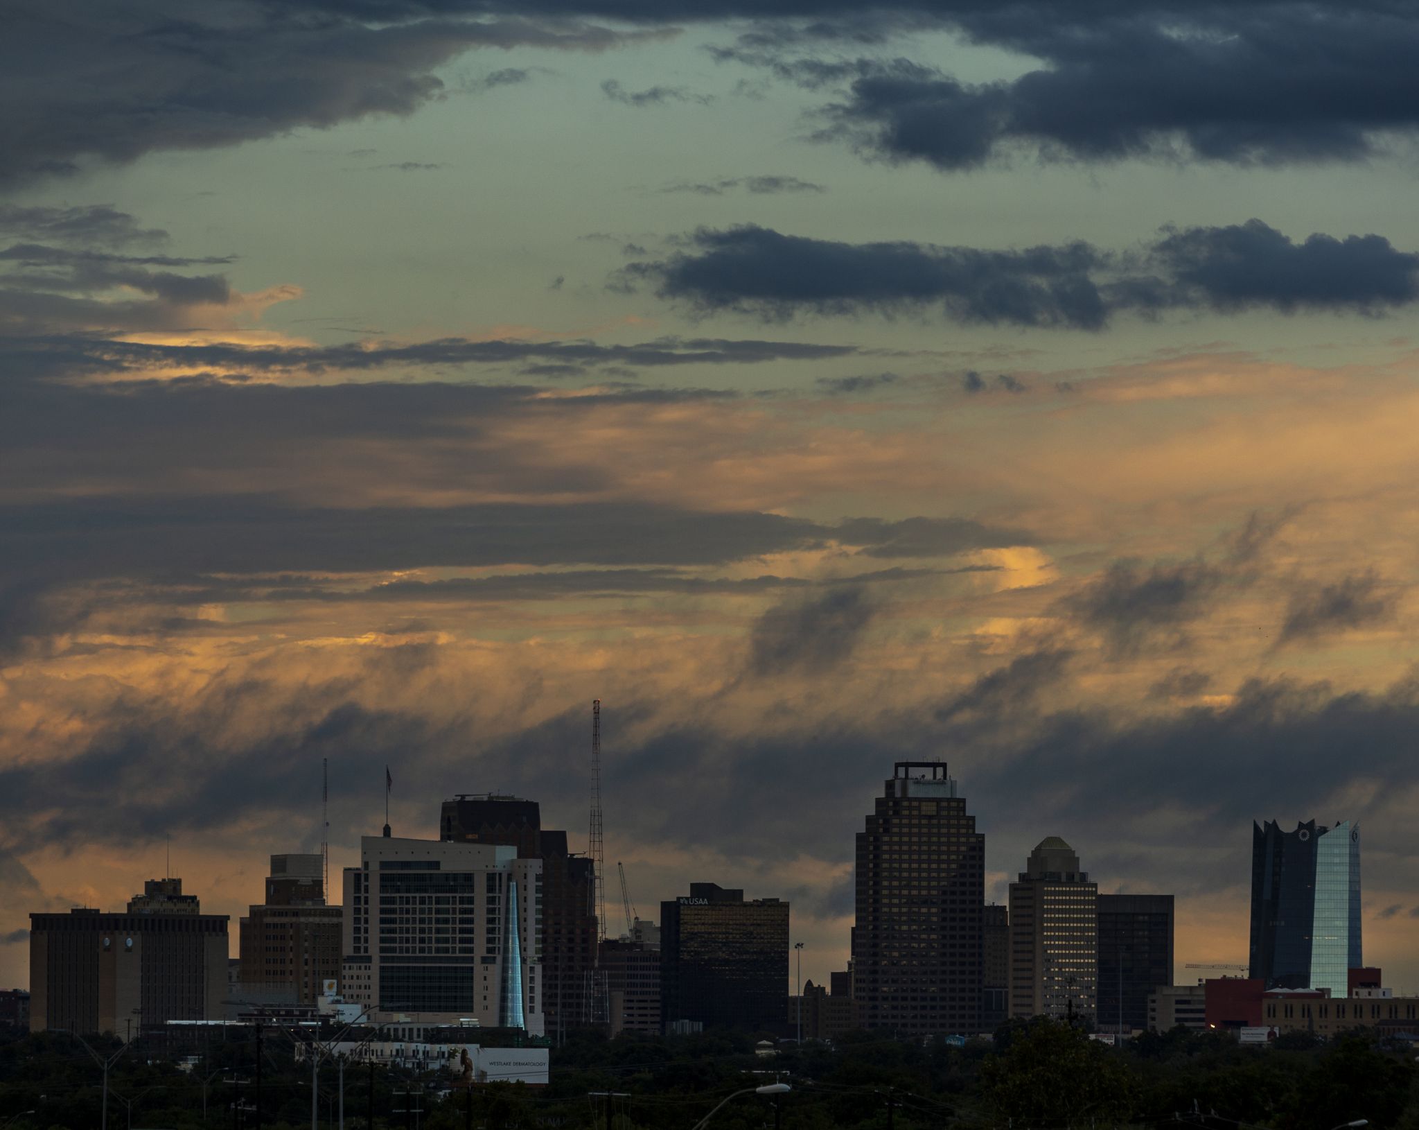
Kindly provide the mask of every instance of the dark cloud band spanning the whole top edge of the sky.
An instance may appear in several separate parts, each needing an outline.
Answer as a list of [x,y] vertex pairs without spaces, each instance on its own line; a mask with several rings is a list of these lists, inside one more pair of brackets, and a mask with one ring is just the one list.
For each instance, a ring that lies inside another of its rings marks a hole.
[[[876,9],[846,0],[231,0],[220,9],[145,0],[122,13],[78,0],[64,20],[43,0],[16,0],[7,16],[0,99],[16,111],[0,125],[0,182],[412,114],[444,92],[436,70],[477,47],[595,51],[680,23],[742,17],[756,24],[724,57],[758,57],[805,84],[851,82],[827,108],[824,136],[942,169],[1020,148],[1076,160],[1359,159],[1419,119],[1409,67],[1419,31],[1402,0],[893,0]],[[955,28],[1040,67],[972,85],[908,61],[815,55],[880,47],[914,27]],[[507,82],[519,74],[494,72]],[[674,87],[614,89],[633,105],[701,98]]]

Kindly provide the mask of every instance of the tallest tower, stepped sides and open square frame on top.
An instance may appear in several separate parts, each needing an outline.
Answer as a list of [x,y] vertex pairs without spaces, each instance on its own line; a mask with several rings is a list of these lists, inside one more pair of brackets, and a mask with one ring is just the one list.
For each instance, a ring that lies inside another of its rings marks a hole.
[[985,835],[942,761],[898,761],[857,833],[853,992],[863,1028],[982,1031]]

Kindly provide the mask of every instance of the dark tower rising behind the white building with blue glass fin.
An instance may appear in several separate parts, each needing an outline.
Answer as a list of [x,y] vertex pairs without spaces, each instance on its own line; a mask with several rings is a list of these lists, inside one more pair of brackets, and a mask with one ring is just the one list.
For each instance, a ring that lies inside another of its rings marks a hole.
[[568,849],[566,832],[542,828],[536,801],[461,794],[443,802],[438,835],[455,843],[502,843],[519,859],[542,860],[542,977],[548,1033],[589,1025],[596,1018],[592,968],[596,909],[592,860]]

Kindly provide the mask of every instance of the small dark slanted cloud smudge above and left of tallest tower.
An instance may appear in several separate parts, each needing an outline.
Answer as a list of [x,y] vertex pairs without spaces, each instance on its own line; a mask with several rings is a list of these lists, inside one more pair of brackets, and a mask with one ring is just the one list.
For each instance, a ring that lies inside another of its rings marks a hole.
[[763,679],[832,670],[857,647],[874,612],[860,585],[775,605],[749,633],[749,673]]

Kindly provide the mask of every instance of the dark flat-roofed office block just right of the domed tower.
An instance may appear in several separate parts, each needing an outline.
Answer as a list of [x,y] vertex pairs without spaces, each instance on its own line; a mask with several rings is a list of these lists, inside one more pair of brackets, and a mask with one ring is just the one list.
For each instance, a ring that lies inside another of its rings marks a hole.
[[1172,985],[1172,896],[1098,896],[1100,1032],[1148,1028],[1148,999]]

